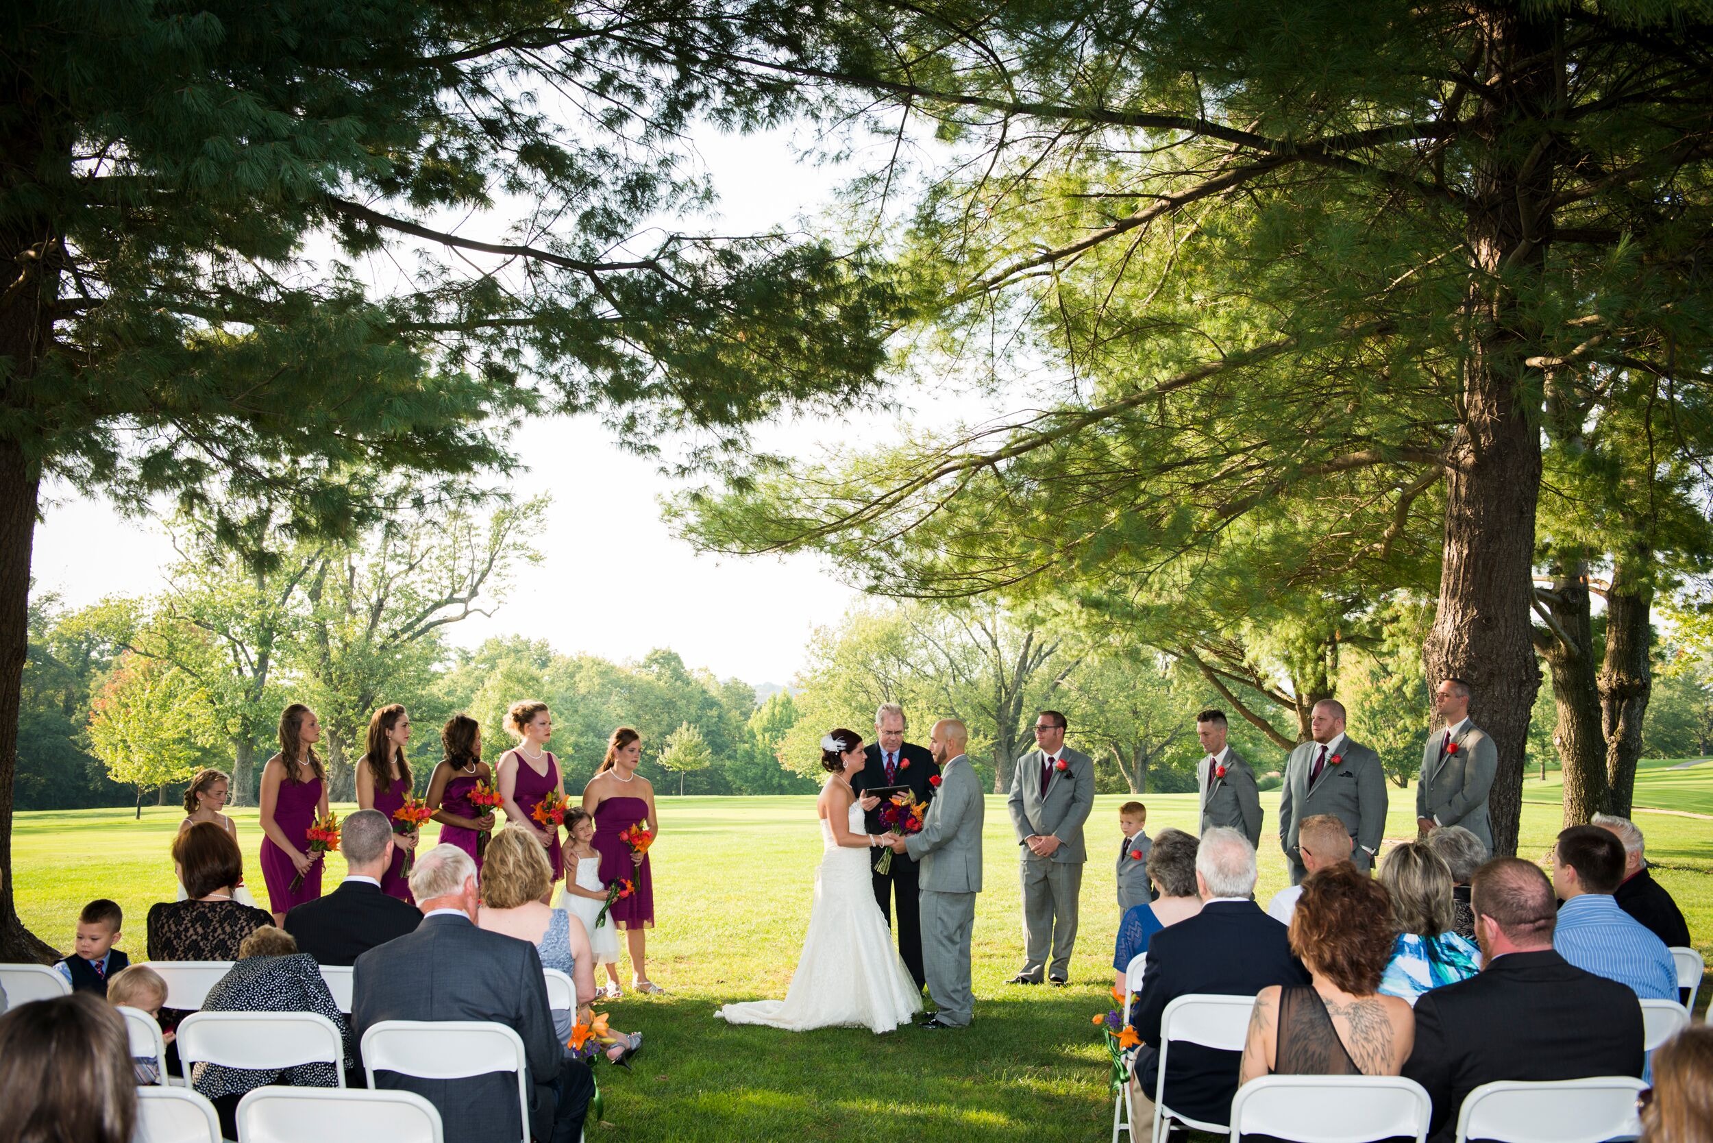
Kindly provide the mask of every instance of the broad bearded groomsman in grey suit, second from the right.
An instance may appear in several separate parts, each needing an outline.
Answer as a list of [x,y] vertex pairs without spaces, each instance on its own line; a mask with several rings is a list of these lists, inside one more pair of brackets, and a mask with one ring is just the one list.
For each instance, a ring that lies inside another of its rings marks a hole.
[[1290,754],[1285,764],[1285,792],[1280,797],[1280,848],[1290,860],[1290,883],[1300,884],[1309,871],[1302,867],[1297,829],[1316,814],[1333,814],[1357,848],[1352,864],[1369,872],[1386,836],[1386,771],[1381,756],[1345,735],[1345,704],[1321,699],[1309,716],[1314,735]]

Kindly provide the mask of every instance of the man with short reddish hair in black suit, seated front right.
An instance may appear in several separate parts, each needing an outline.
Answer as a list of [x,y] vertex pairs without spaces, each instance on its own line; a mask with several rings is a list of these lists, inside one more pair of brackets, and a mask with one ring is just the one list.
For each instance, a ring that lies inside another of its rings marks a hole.
[[1429,1143],[1451,1143],[1463,1098],[1494,1080],[1641,1076],[1641,1004],[1552,951],[1547,874],[1516,857],[1475,871],[1483,970],[1422,996],[1403,1074],[1434,1100]]

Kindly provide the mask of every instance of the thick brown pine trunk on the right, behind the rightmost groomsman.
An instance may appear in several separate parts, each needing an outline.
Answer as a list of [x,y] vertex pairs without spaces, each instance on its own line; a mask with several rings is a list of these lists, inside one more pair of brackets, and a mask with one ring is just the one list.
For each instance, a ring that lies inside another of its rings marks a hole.
[[1439,613],[1424,648],[1429,687],[1447,675],[1475,687],[1499,747],[1489,811],[1494,853],[1516,853],[1528,718],[1540,687],[1531,643],[1535,509],[1540,500],[1538,377],[1525,358],[1535,331],[1514,312],[1514,284],[1538,274],[1554,156],[1538,134],[1555,105],[1557,27],[1537,10],[1475,9],[1483,31],[1482,99],[1470,122],[1477,165],[1466,238],[1470,343],[1461,425],[1446,451],[1446,547]]

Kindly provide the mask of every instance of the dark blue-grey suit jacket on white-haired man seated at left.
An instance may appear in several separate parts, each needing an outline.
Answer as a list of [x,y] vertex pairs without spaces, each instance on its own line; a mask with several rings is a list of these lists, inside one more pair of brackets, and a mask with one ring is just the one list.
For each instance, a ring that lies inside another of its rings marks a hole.
[[[382,1020],[492,1020],[524,1042],[529,1064],[529,1129],[553,1129],[553,1081],[564,1049],[546,1008],[541,958],[528,941],[485,932],[464,917],[423,917],[416,932],[356,958],[351,1032]],[[461,1143],[517,1143],[517,1080],[505,1071],[466,1080],[418,1080],[377,1071],[375,1086],[415,1092],[440,1110]]]

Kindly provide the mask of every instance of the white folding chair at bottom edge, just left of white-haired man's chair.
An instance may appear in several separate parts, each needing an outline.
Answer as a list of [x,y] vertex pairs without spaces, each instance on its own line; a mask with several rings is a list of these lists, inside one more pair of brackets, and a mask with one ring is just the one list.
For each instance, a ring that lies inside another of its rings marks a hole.
[[243,1143],[444,1143],[440,1112],[415,1092],[255,1088],[238,1100]]

